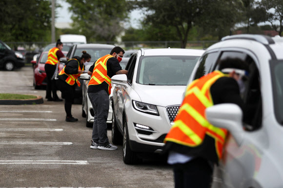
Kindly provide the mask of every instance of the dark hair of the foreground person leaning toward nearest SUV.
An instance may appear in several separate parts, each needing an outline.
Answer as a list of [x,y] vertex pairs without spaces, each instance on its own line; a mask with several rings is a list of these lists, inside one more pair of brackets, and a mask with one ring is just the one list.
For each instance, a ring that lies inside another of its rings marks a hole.
[[249,70],[247,62],[243,61],[240,58],[230,58],[230,57],[227,57],[219,62],[219,70],[221,71],[222,69],[225,68],[241,69],[245,71]]

